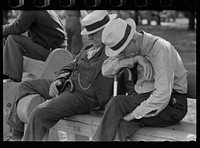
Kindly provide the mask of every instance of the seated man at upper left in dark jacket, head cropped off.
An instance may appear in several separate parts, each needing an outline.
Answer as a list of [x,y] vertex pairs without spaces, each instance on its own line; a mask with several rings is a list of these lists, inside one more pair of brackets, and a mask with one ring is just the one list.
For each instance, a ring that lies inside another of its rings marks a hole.
[[[22,35],[28,31],[28,37]],[[3,25],[3,74],[20,82],[23,56],[45,61],[56,48],[67,47],[67,33],[58,15],[52,10],[19,11],[16,20]]]

